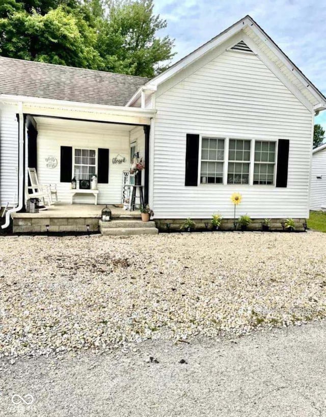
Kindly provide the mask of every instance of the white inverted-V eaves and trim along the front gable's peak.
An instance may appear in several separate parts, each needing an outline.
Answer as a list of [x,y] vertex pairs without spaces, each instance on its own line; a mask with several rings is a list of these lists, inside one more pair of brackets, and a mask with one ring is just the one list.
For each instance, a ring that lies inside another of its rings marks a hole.
[[[157,85],[171,78],[176,73],[183,70],[188,65],[193,64],[199,58],[210,52],[212,49],[226,42],[235,34],[243,31],[251,42],[267,55],[268,59],[287,77],[287,79],[297,88],[297,90],[305,96],[306,99],[315,107],[316,111],[326,109],[326,97],[317,89],[317,87],[298,69],[290,58],[279,48],[276,43],[263,31],[263,29],[255,22],[255,20],[247,15],[235,22],[232,26],[225,29],[219,35],[215,36],[208,42],[195,49],[193,52],[184,56],[178,62],[173,64],[166,71],[152,78],[144,86],[155,90]],[[246,44],[250,49],[250,46]],[[143,88],[134,94],[128,101],[127,106],[134,103]]]

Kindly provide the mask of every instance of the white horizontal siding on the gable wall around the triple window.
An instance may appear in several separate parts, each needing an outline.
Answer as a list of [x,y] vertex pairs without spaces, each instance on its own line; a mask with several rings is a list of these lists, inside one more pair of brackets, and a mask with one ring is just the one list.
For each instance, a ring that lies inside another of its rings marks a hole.
[[[237,215],[308,216],[313,116],[256,55],[226,51],[190,75],[177,74],[158,87],[155,107],[156,218],[203,218],[218,211],[232,218],[234,191],[243,196]],[[289,139],[288,187],[185,187],[187,133]]]

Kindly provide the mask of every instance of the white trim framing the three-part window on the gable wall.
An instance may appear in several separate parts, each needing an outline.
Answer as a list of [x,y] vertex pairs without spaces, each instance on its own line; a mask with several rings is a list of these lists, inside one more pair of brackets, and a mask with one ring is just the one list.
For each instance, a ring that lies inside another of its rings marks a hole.
[[[207,184],[201,184],[200,177],[201,177],[201,162],[202,162],[202,139],[203,138],[212,138],[212,139],[224,139],[224,170],[223,170],[223,183],[207,183]],[[249,163],[249,183],[248,184],[228,184],[228,169],[229,169],[229,142],[230,139],[238,139],[238,140],[250,140],[250,160]],[[273,184],[254,184],[254,165],[255,165],[255,142],[275,142],[275,163],[274,163],[274,181]],[[278,142],[279,139],[274,138],[261,138],[261,137],[245,137],[240,135],[219,135],[219,134],[199,134],[199,152],[198,152],[198,180],[197,185],[198,186],[221,186],[226,185],[230,187],[259,187],[264,188],[267,187],[267,189],[270,189],[272,187],[276,188],[276,174],[277,174],[277,161],[278,161]]]

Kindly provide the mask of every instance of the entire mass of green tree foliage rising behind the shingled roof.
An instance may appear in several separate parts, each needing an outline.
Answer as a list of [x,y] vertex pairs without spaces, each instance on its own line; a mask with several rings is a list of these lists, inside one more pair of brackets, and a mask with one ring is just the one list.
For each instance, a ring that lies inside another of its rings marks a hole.
[[152,77],[174,55],[166,26],[153,0],[5,0],[0,54]]

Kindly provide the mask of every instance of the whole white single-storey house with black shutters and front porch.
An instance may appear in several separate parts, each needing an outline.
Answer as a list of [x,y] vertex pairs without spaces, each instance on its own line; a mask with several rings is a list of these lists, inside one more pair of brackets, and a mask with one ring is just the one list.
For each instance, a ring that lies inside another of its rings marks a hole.
[[0,58],[0,88],[0,199],[16,196],[14,211],[28,166],[57,183],[61,203],[73,176],[92,173],[98,202],[120,203],[136,150],[159,227],[232,219],[233,192],[237,215],[309,216],[314,116],[326,98],[250,16],[151,80]]

